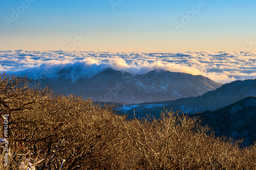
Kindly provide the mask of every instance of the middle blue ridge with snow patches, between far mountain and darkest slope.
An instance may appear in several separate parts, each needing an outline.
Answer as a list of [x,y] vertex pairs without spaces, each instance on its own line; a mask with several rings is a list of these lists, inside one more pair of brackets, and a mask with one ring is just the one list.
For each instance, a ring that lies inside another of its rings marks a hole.
[[[145,113],[152,113],[159,116],[163,111],[163,106],[167,110],[181,110],[186,113],[203,112],[206,110],[217,110],[227,105],[233,104],[248,96],[256,96],[256,79],[245,81],[234,81],[222,85],[220,88],[209,91],[197,97],[183,98],[175,101],[155,102],[155,103],[141,103],[140,106],[145,107],[144,110],[136,110],[136,107],[122,106],[119,107],[121,112],[133,115],[135,110],[136,115],[144,115]],[[154,104],[155,107],[147,107]],[[127,108],[130,108],[127,109]]]

